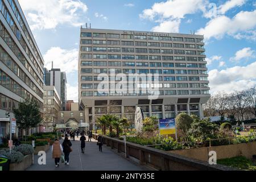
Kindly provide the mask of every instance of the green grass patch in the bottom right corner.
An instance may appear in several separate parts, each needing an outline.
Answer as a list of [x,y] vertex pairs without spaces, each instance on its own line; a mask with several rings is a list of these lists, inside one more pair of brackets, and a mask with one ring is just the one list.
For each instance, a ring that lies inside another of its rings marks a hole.
[[256,171],[256,163],[243,156],[229,159],[219,159],[217,160],[217,163],[242,170]]

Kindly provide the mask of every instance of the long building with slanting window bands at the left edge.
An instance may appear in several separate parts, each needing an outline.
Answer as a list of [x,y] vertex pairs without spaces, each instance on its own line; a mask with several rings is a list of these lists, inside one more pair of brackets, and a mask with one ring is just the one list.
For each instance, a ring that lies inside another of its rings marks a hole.
[[[0,11],[0,118],[14,118],[13,109],[26,98],[43,112],[43,57],[18,0],[0,0]],[[0,137],[8,133],[9,123],[0,121]]]

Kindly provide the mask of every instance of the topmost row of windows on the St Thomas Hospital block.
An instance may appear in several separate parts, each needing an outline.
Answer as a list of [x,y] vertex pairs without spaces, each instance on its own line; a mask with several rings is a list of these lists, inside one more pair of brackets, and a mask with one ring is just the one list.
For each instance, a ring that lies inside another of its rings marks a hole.
[[179,38],[170,36],[146,36],[146,35],[125,35],[125,34],[104,34],[104,33],[90,33],[82,32],[81,37],[85,38],[111,38],[111,39],[140,39],[140,40],[164,40],[164,41],[174,41],[174,42],[196,42],[203,43],[203,39],[195,38]]

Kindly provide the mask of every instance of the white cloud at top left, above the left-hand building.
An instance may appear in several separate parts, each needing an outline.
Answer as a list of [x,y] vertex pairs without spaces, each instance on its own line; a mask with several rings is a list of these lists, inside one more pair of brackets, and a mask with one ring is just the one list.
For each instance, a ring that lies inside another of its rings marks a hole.
[[79,11],[88,7],[80,0],[19,0],[31,30],[54,29],[59,24],[81,26]]

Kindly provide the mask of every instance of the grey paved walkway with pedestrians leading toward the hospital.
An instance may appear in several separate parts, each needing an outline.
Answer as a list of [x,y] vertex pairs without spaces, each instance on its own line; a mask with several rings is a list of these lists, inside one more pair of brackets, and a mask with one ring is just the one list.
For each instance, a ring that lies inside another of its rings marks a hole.
[[[86,139],[88,137],[86,136]],[[102,152],[98,151],[96,140],[86,142],[85,154],[81,154],[80,141],[72,142],[72,150],[69,155],[69,166],[60,163],[60,167],[55,167],[52,159],[51,147],[46,153],[46,165],[38,164],[38,155],[34,156],[34,164],[27,171],[142,171],[136,164],[129,162],[122,156],[115,154],[109,148],[102,146]],[[61,141],[62,143],[62,141]]]

